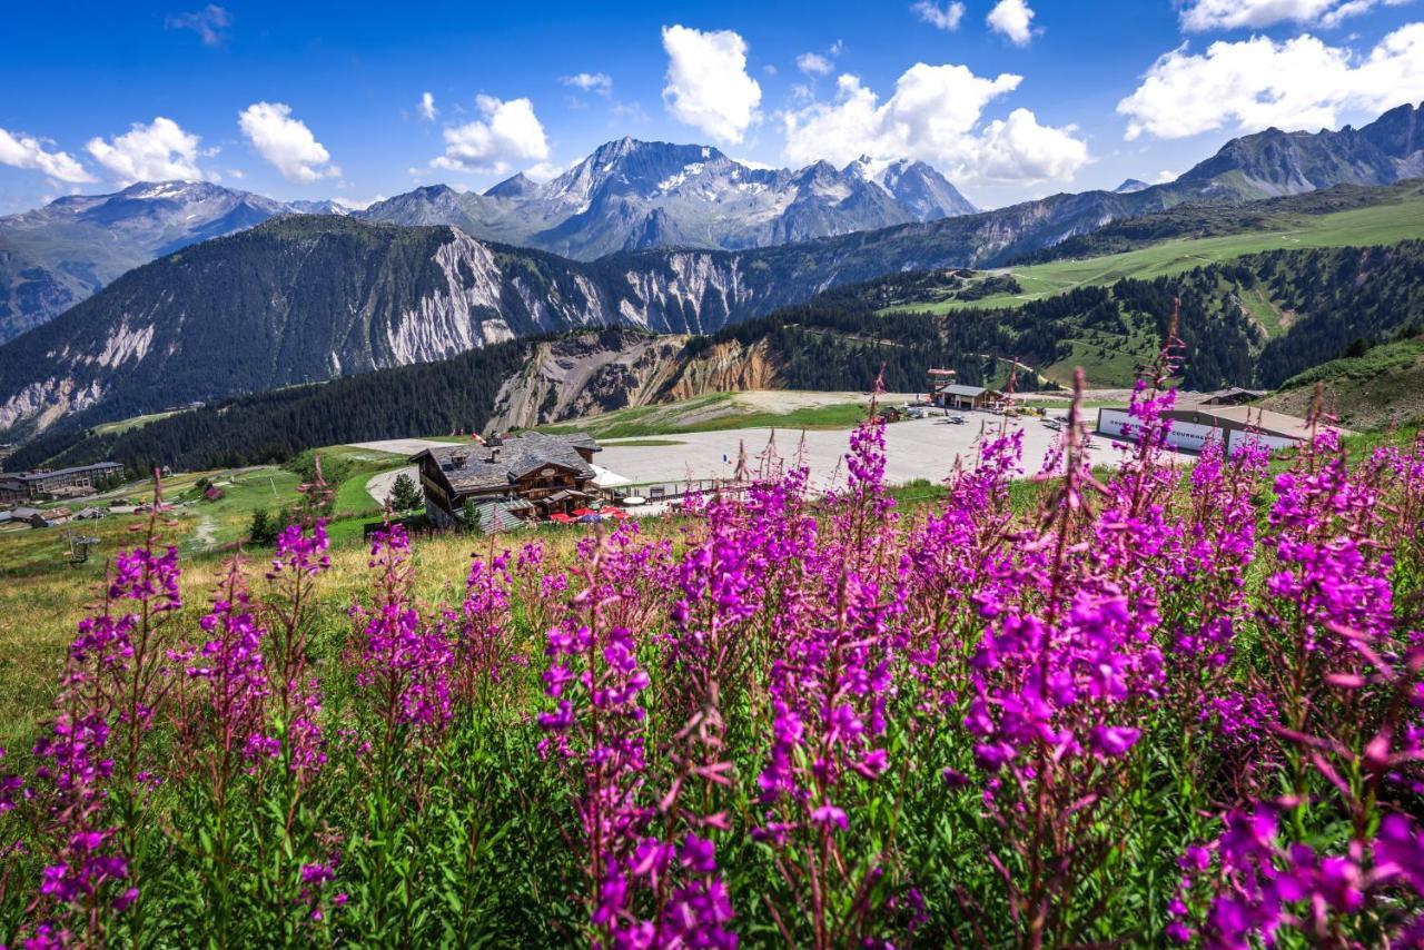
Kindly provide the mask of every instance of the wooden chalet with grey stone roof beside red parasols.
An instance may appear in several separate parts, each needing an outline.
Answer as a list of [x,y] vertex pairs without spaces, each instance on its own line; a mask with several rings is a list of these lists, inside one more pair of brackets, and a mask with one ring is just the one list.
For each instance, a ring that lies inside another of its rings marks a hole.
[[468,503],[486,531],[508,530],[588,507],[598,497],[598,443],[584,433],[528,432],[484,444],[451,444],[412,456],[420,467],[426,513],[444,528],[461,524]]

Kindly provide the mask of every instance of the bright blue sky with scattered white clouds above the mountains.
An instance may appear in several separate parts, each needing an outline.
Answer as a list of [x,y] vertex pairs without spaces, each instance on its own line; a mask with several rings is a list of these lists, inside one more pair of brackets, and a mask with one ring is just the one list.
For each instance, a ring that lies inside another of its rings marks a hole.
[[1424,100],[1424,0],[174,0],[3,23],[4,212],[155,177],[484,188],[622,135],[768,165],[909,155],[998,207]]

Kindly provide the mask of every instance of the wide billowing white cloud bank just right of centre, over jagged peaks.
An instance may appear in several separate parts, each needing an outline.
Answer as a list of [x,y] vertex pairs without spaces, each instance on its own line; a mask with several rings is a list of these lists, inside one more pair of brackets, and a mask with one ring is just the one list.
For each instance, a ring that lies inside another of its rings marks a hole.
[[880,103],[856,75],[837,80],[834,103],[813,103],[783,115],[786,158],[840,165],[871,158],[917,158],[957,181],[1035,182],[1069,179],[1088,162],[1072,125],[1041,125],[1024,108],[980,128],[984,107],[1018,88],[1021,75],[974,75],[964,66],[917,63]]

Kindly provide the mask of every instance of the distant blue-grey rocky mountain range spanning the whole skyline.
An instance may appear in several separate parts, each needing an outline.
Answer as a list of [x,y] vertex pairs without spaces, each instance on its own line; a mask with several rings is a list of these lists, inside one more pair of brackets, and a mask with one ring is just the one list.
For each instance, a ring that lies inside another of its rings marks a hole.
[[[1082,212],[1069,215],[1067,226],[1059,226],[1062,214],[1054,215],[1044,245],[1124,214],[1182,201],[1250,201],[1421,175],[1418,113],[1401,105],[1358,130],[1267,130],[1232,140],[1175,182],[1148,187],[1128,179],[1114,192],[1087,192],[1075,202]],[[1122,208],[1102,198],[1109,194],[1146,198]],[[1062,198],[1001,211],[1014,219]],[[209,182],[141,182],[0,218],[0,342],[140,263],[293,212],[347,211],[332,201],[281,202]],[[860,158],[840,169],[827,162],[763,169],[706,145],[624,138],[543,184],[521,174],[484,194],[429,185],[352,214],[384,224],[453,225],[474,238],[587,261],[654,246],[768,246],[973,212],[954,185],[924,162]]]

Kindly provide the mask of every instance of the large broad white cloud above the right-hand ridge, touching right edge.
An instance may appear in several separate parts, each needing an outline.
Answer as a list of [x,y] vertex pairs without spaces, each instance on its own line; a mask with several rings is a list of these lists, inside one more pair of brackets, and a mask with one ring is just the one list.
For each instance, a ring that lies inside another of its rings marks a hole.
[[1411,23],[1363,57],[1309,33],[1283,43],[1213,43],[1198,56],[1183,44],[1152,64],[1118,111],[1128,117],[1129,140],[1185,138],[1226,127],[1334,127],[1344,110],[1380,113],[1420,98],[1424,23]]

